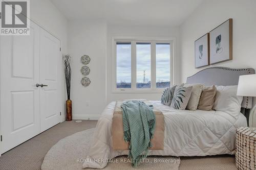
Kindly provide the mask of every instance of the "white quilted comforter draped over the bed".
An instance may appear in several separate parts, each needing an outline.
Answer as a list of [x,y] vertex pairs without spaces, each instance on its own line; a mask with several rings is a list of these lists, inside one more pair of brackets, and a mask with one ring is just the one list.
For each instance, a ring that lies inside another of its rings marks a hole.
[[[151,101],[164,114],[164,150],[151,150],[150,155],[206,156],[234,154],[236,128],[247,126],[242,113],[229,115],[221,111],[175,110]],[[115,102],[110,103],[98,120],[93,144],[83,168],[103,168],[108,159],[127,155],[112,149],[112,117]],[[89,161],[90,160],[90,161]]]

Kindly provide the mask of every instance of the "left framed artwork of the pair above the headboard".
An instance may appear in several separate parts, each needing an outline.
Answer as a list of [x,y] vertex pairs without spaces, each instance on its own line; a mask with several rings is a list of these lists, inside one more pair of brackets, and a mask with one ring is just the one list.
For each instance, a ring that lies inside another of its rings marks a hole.
[[209,33],[195,41],[195,68],[209,65]]

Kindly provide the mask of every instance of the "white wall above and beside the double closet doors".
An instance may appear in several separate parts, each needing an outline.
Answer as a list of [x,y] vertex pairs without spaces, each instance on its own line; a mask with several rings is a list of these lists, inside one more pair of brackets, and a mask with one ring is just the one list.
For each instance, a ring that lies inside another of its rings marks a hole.
[[[61,53],[67,54],[67,19],[49,0],[30,1],[30,18],[61,41]],[[63,70],[63,69],[62,69]],[[62,74],[61,121],[65,120],[66,87]]]

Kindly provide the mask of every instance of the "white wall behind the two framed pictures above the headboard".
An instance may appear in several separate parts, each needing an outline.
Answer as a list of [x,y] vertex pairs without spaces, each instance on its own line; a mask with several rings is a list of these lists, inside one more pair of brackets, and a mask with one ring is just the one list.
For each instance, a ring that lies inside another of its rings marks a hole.
[[233,60],[212,66],[252,67],[256,70],[256,1],[204,1],[180,26],[181,82],[200,69],[194,66],[194,41],[233,18]]

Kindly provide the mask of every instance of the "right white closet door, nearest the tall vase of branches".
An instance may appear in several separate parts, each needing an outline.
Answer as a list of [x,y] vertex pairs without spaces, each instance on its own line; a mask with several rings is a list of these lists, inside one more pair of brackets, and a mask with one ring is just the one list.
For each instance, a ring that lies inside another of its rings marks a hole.
[[40,29],[40,127],[45,131],[60,122],[60,41]]

